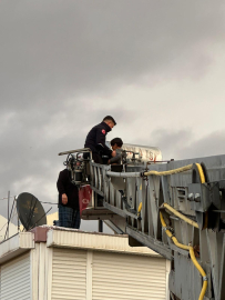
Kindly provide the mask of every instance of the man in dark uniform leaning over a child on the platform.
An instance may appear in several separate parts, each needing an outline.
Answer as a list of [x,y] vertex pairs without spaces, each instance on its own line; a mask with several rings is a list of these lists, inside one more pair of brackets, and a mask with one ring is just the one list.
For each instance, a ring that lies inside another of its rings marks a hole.
[[112,150],[105,144],[105,137],[115,124],[115,120],[111,116],[106,116],[100,124],[93,127],[88,133],[84,147],[92,150],[94,162],[103,163],[103,157],[108,157],[106,161],[112,157]]

